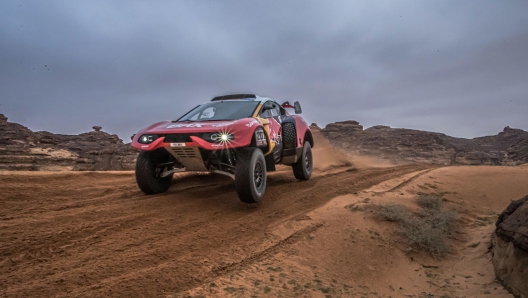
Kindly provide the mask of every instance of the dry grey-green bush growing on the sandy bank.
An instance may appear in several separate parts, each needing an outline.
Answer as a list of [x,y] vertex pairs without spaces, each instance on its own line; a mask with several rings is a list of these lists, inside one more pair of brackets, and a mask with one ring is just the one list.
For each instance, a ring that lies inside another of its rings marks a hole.
[[411,247],[442,257],[449,251],[447,240],[456,228],[458,214],[446,209],[440,197],[420,195],[416,201],[420,207],[414,213],[403,205],[385,204],[378,206],[377,214],[397,223]]

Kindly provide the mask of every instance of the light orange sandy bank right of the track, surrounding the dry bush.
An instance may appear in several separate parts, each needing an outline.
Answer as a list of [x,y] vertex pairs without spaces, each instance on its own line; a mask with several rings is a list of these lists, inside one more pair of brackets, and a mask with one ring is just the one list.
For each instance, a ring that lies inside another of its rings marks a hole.
[[[273,235],[284,239],[278,247],[172,297],[513,298],[495,280],[488,247],[501,206],[528,191],[527,169],[425,169],[336,197],[274,224]],[[368,208],[397,203],[417,209],[420,193],[441,195],[460,214],[461,230],[443,259],[409,249],[397,225]]]

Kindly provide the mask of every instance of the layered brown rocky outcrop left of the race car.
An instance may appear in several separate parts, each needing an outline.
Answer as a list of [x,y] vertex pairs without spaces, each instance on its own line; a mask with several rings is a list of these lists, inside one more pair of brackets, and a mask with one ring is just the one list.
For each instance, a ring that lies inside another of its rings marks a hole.
[[33,132],[0,114],[0,170],[132,170],[137,151],[117,135]]

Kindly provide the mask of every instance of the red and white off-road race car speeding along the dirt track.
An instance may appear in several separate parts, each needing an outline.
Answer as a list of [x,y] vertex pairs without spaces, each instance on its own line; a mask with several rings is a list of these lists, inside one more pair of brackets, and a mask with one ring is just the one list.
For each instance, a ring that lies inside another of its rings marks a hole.
[[132,137],[141,149],[136,181],[146,194],[165,192],[177,172],[212,172],[235,180],[245,203],[262,200],[266,173],[291,165],[297,179],[312,175],[310,127],[299,102],[282,105],[255,94],[217,96],[178,120],[155,123]]

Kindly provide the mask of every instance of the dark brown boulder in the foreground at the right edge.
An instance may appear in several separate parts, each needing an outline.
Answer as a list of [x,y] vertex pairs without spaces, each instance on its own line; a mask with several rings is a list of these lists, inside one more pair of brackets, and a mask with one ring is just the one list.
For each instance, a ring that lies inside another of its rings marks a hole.
[[528,196],[512,202],[497,220],[492,261],[497,279],[516,297],[528,297]]

